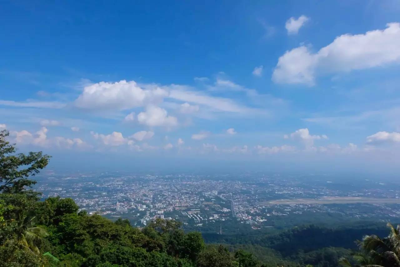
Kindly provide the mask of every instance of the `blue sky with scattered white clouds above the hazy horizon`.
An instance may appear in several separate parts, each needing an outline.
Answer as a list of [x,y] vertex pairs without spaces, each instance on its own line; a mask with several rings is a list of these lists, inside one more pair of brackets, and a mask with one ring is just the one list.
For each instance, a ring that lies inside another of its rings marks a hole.
[[22,151],[78,166],[398,170],[399,1],[0,12],[0,126]]

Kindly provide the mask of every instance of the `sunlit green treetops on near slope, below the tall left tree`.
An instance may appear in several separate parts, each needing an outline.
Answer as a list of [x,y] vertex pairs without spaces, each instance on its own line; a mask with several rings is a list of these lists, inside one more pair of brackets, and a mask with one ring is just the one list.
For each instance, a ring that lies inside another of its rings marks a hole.
[[138,229],[128,220],[77,212],[70,198],[39,202],[3,193],[0,199],[2,266],[256,266],[252,255],[206,247],[200,233],[184,233],[173,220]]

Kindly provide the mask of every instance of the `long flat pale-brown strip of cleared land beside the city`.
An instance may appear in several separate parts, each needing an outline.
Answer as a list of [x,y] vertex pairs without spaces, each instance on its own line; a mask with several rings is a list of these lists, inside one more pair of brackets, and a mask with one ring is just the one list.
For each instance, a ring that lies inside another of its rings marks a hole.
[[396,204],[400,203],[400,198],[360,198],[360,197],[293,198],[293,199],[277,199],[277,200],[264,201],[261,202],[260,204],[294,205],[294,204],[350,204],[350,203]]

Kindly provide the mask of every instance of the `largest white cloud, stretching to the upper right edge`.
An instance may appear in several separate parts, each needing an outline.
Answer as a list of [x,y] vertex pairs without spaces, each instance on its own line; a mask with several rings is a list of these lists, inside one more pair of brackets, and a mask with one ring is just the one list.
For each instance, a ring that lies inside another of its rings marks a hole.
[[400,63],[400,23],[365,34],[343,34],[317,53],[301,46],[282,55],[272,74],[276,83],[315,84],[316,72],[336,73]]

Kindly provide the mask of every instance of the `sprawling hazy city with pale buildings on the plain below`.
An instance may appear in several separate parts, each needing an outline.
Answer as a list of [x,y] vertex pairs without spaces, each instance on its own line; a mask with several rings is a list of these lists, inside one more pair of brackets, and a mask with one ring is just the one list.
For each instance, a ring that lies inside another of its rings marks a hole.
[[[186,227],[226,231],[226,225],[257,230],[300,223],[391,220],[400,217],[400,187],[358,179],[341,186],[325,176],[128,174],[48,172],[39,176],[42,196],[73,198],[90,214],[150,220],[180,220]],[[360,182],[362,181],[362,182]],[[348,181],[347,181],[348,182]],[[328,220],[328,221],[326,221]]]

